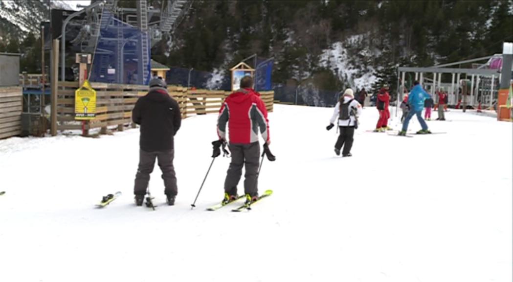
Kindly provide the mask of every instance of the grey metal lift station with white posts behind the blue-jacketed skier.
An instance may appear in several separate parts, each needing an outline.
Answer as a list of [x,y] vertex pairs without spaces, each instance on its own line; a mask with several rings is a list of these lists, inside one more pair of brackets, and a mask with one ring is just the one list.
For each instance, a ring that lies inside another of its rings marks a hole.
[[[409,90],[405,88],[406,74],[411,76],[412,73],[415,73],[415,80],[419,81],[435,100],[437,99],[435,97],[436,91],[444,90],[448,94],[449,106],[461,102],[464,111],[466,108],[477,108],[480,104],[482,107],[498,110],[505,102],[498,98],[499,89],[509,88],[511,72],[513,71],[511,54],[508,54],[509,51],[506,47],[504,47],[504,50],[503,54],[431,67],[398,67],[398,105]],[[468,64],[472,64],[472,68],[456,67]],[[449,74],[450,82],[447,80]],[[442,76],[445,78],[444,83],[442,82]]]

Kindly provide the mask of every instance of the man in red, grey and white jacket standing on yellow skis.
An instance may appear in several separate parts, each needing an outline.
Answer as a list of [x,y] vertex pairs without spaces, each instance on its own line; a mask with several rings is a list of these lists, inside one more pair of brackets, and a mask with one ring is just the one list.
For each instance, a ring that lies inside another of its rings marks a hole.
[[237,185],[245,166],[244,193],[251,202],[258,200],[257,173],[259,168],[260,134],[264,139],[264,151],[271,143],[269,139],[269,121],[267,109],[260,94],[252,89],[253,79],[249,76],[242,78],[240,87],[228,96],[218,117],[218,136],[221,142],[226,142],[226,124],[229,130],[229,149],[231,163],[225,179],[224,203],[238,198]]

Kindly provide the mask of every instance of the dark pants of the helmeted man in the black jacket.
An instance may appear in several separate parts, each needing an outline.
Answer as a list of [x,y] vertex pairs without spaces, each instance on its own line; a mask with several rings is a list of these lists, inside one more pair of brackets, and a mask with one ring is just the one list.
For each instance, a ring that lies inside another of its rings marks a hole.
[[175,196],[178,193],[178,189],[176,187],[176,174],[173,166],[173,149],[159,152],[139,151],[139,168],[135,175],[133,194],[146,194],[148,182],[150,181],[150,174],[153,172],[153,167],[155,166],[155,158],[159,159],[162,179],[164,179],[164,193],[166,195]]

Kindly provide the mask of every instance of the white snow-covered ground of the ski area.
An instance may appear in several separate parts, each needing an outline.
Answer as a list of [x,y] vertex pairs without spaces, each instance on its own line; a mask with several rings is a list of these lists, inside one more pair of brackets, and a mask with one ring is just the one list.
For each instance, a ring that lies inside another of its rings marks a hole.
[[[378,116],[366,107],[353,157],[340,158],[331,113],[275,105],[277,161],[265,160],[259,180],[274,194],[244,213],[204,210],[223,197],[221,157],[190,209],[215,115],[183,121],[179,195],[162,205],[156,167],[156,211],[133,204],[137,129],[0,140],[0,281],[512,280],[511,123],[451,110],[450,122],[428,122],[447,134],[393,137],[366,131]],[[93,208],[115,191],[123,196]]]

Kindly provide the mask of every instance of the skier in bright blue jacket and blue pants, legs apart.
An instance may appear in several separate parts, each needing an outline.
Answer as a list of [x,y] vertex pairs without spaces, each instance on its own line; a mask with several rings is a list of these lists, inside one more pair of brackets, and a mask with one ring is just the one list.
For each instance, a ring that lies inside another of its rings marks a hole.
[[410,105],[410,111],[408,112],[408,115],[404,119],[403,122],[403,129],[399,131],[399,135],[405,136],[406,130],[408,130],[408,124],[410,123],[410,119],[413,117],[413,115],[417,115],[417,119],[420,122],[420,125],[422,126],[422,129],[417,131],[417,134],[430,134],[431,131],[427,128],[427,124],[422,118],[422,110],[424,109],[424,101],[428,99],[430,96],[429,94],[422,89],[422,86],[419,84],[418,81],[415,81],[413,83],[413,89],[411,89],[410,94],[408,95],[408,104]]

